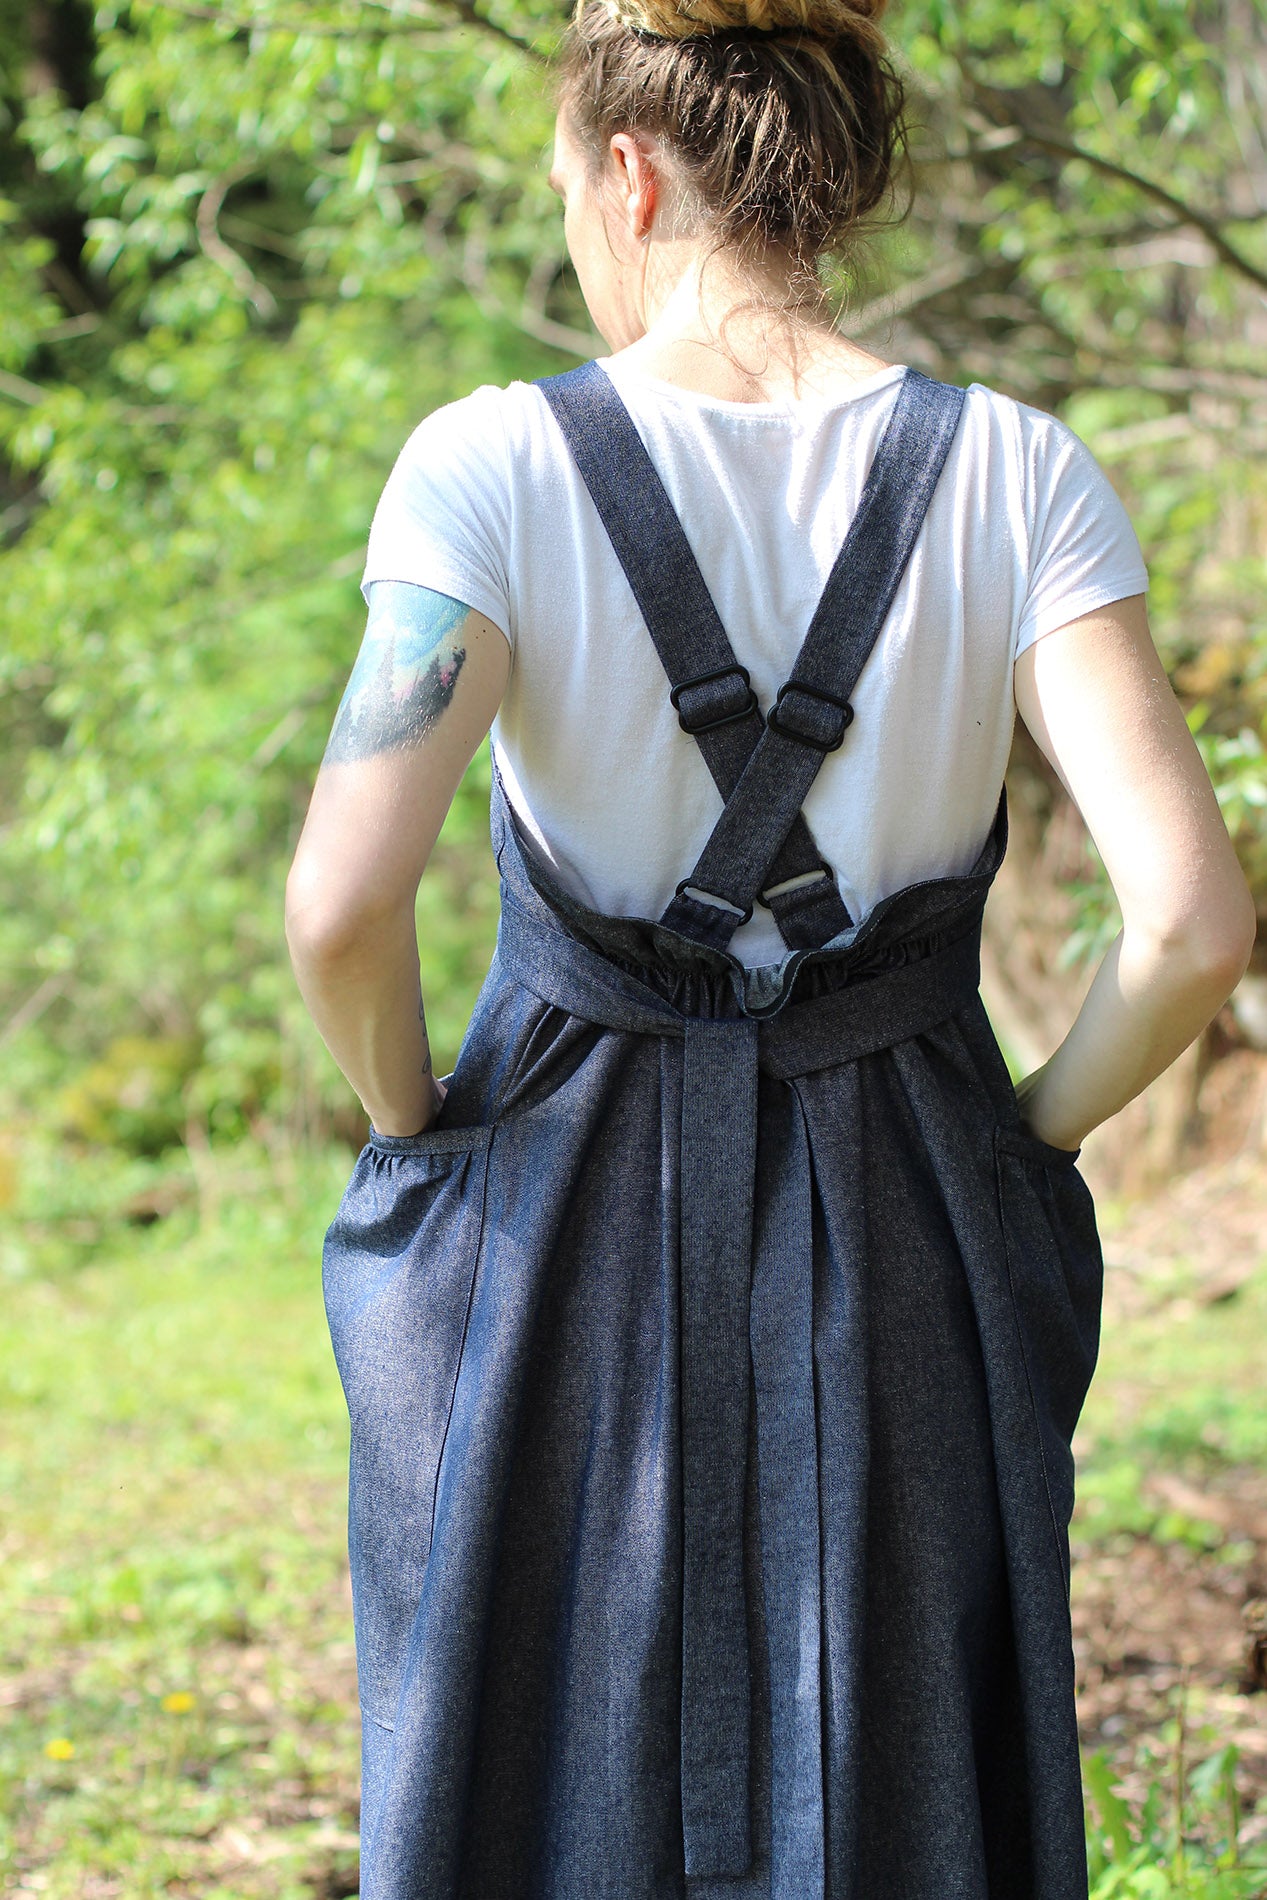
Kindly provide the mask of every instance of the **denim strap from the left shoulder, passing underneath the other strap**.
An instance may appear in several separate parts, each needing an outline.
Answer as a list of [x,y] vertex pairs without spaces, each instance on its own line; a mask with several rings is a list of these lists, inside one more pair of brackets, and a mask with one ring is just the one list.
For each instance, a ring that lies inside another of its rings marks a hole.
[[[678,720],[699,745],[726,800],[764,720],[655,464],[596,363],[543,376],[538,388],[625,570],[669,674]],[[769,884],[790,880],[800,880],[794,889],[769,897],[790,950],[815,950],[849,927],[849,912],[800,813],[781,838]]]

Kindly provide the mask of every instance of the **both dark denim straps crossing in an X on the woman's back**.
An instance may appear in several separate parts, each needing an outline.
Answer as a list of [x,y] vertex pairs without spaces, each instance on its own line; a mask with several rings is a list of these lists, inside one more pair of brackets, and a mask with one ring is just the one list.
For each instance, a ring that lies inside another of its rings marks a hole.
[[538,384],[638,602],[678,724],[722,815],[661,923],[726,950],[762,902],[792,950],[853,922],[802,815],[853,720],[849,695],[893,606],[954,441],[965,391],[908,369],[790,678],[762,718],[665,484],[596,363]]

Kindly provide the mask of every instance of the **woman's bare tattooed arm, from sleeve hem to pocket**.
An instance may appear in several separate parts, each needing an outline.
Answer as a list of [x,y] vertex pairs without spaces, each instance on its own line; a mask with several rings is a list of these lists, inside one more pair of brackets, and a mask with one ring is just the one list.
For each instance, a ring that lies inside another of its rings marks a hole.
[[414,901],[505,692],[505,636],[462,602],[376,581],[287,880],[287,942],[321,1037],[380,1134],[439,1108]]

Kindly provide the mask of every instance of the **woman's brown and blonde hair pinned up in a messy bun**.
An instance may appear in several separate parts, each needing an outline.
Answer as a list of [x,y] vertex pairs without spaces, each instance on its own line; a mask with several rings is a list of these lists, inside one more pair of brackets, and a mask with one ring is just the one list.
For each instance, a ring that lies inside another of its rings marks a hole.
[[906,150],[885,0],[579,0],[558,104],[595,160],[617,131],[674,154],[720,245],[813,268],[893,194]]

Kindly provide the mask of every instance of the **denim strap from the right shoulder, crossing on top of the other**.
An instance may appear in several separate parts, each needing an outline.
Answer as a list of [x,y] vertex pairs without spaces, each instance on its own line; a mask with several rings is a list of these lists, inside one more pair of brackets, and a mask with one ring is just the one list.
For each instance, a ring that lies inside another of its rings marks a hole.
[[[906,370],[788,682],[712,836],[661,922],[724,950],[762,889],[826,752],[853,720],[849,695],[916,545],[965,391]],[[701,893],[701,895],[691,895]]]

